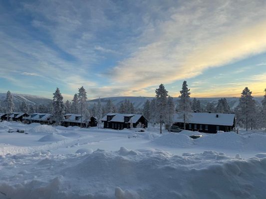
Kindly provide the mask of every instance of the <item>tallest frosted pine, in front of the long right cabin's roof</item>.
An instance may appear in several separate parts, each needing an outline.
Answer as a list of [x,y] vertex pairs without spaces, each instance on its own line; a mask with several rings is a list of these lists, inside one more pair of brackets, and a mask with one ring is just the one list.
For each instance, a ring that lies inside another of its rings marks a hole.
[[178,112],[180,117],[184,121],[184,130],[186,130],[186,123],[189,122],[191,117],[191,106],[190,106],[190,89],[188,89],[187,81],[183,82],[182,90],[180,91]]

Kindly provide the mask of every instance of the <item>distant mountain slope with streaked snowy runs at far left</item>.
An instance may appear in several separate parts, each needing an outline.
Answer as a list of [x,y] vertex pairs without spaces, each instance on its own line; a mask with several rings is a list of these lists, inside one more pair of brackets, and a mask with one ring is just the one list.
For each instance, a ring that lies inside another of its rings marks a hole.
[[[3,102],[5,100],[6,94],[0,93],[0,101]],[[33,96],[33,95],[26,95],[26,94],[12,94],[13,101],[15,104],[18,104],[22,101],[25,101],[27,104],[31,105],[38,105],[38,104],[48,104],[52,100],[40,97],[40,96]]]

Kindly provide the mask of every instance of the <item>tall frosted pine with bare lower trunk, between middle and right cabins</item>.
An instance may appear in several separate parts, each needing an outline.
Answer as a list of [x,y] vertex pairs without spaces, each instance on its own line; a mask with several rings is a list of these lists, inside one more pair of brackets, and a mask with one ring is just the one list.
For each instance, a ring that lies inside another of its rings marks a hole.
[[158,116],[160,118],[160,133],[162,133],[162,122],[165,121],[166,116],[168,91],[166,91],[163,84],[160,84],[159,88],[155,90],[155,93]]

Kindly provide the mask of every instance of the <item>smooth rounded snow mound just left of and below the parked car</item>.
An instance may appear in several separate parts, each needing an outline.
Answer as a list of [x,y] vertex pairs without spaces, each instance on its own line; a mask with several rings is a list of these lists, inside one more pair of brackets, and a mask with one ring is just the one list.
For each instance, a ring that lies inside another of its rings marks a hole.
[[193,144],[193,140],[187,135],[167,133],[154,139],[151,143],[168,147],[189,147]]

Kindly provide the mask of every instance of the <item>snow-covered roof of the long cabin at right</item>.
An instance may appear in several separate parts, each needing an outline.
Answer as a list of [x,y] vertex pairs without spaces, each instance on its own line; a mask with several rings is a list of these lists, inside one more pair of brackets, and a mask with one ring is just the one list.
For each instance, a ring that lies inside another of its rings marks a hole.
[[[231,126],[234,124],[234,118],[235,114],[192,112],[188,123]],[[183,115],[175,114],[173,121],[184,122]]]

